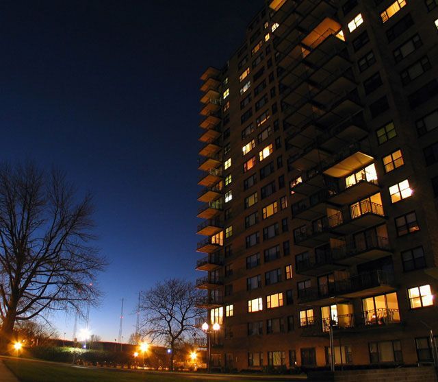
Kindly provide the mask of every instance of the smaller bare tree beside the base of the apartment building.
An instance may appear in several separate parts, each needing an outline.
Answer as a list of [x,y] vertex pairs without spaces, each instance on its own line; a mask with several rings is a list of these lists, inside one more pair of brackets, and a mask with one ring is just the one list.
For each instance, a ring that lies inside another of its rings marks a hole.
[[198,332],[195,321],[203,316],[203,310],[196,303],[202,296],[192,283],[177,278],[164,280],[142,293],[142,335],[169,346],[171,370],[179,342]]

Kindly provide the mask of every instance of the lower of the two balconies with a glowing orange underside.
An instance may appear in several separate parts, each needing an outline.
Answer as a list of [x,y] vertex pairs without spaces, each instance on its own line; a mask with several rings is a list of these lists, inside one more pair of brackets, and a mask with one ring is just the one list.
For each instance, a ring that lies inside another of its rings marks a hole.
[[361,142],[350,143],[348,146],[342,147],[337,155],[322,164],[324,174],[333,178],[343,178],[351,174],[352,171],[370,165],[374,158],[365,154],[369,151],[368,147]]

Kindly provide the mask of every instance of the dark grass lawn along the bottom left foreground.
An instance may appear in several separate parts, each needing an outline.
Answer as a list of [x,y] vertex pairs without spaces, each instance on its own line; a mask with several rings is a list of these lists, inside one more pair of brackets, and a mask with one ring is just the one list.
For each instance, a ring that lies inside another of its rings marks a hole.
[[[3,359],[6,366],[20,382],[175,382],[175,381],[218,381],[218,377],[206,377],[166,372],[138,372],[110,368],[81,368],[65,364],[29,361],[27,359]],[[250,377],[249,377],[250,378]],[[229,376],[219,380],[231,381]],[[236,379],[240,382],[254,382],[255,379]]]

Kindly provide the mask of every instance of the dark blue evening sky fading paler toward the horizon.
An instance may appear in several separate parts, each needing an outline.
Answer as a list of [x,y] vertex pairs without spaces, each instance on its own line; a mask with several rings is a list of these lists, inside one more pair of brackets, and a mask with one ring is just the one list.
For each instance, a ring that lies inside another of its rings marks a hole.
[[[1,1],[0,153],[57,165],[96,204],[110,261],[93,332],[134,331],[138,291],[194,279],[201,73],[263,0]],[[66,337],[73,318],[53,318]],[[81,326],[81,323],[78,325]]]

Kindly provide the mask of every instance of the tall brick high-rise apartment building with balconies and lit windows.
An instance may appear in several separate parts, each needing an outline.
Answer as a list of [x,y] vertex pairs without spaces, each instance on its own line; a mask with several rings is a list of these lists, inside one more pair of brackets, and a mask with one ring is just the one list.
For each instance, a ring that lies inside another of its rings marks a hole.
[[437,0],[268,1],[203,73],[215,366],[433,360],[437,79]]

